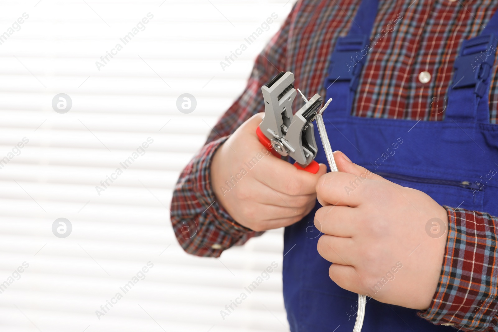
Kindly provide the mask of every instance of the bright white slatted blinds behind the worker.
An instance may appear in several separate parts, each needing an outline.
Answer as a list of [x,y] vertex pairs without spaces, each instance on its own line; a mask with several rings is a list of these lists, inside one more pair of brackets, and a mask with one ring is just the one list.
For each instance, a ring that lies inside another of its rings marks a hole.
[[[2,332],[287,331],[282,231],[220,260],[190,256],[165,207],[294,0],[161,2],[1,2],[0,34],[29,15],[0,45],[0,159],[29,139],[0,169],[0,283],[29,264],[0,294]],[[148,12],[145,30],[98,71],[95,62]],[[273,12],[270,29],[223,71],[220,61]],[[52,110],[59,93],[72,99],[68,113]],[[183,93],[197,98],[190,114],[176,109]],[[99,196],[95,186],[147,137],[146,153]],[[71,221],[68,237],[52,233],[57,218]],[[98,320],[95,311],[148,261],[145,279]],[[220,310],[272,261],[275,272],[223,320]]]

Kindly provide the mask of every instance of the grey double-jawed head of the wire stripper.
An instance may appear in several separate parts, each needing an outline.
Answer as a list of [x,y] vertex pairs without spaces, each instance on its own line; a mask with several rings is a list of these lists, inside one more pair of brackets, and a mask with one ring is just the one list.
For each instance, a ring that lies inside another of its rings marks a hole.
[[300,168],[305,169],[314,162],[318,151],[312,121],[322,105],[322,99],[315,94],[292,115],[292,102],[297,95],[293,83],[294,74],[280,72],[261,87],[264,117],[259,124],[259,132],[256,132],[263,145],[268,144],[267,141],[266,144],[262,141],[261,134],[269,140],[271,148],[279,155],[290,156]]

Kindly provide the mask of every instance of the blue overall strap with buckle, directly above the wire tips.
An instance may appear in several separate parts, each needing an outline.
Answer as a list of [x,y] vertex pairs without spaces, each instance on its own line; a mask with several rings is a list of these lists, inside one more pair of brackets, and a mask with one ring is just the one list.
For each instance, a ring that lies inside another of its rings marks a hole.
[[330,56],[330,66],[325,89],[326,100],[334,100],[327,110],[327,116],[346,117],[358,87],[358,81],[367,60],[375,16],[377,16],[378,0],[363,0],[351,22],[346,37],[339,37]]

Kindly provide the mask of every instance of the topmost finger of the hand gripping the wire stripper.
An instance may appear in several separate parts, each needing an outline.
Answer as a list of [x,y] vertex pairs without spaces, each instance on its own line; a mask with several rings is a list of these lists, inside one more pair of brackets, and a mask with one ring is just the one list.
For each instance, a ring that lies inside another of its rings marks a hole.
[[277,192],[297,196],[315,194],[316,183],[320,176],[327,172],[327,167],[320,164],[320,170],[312,174],[298,170],[291,163],[269,155],[262,158],[253,170],[254,178],[268,187]]

